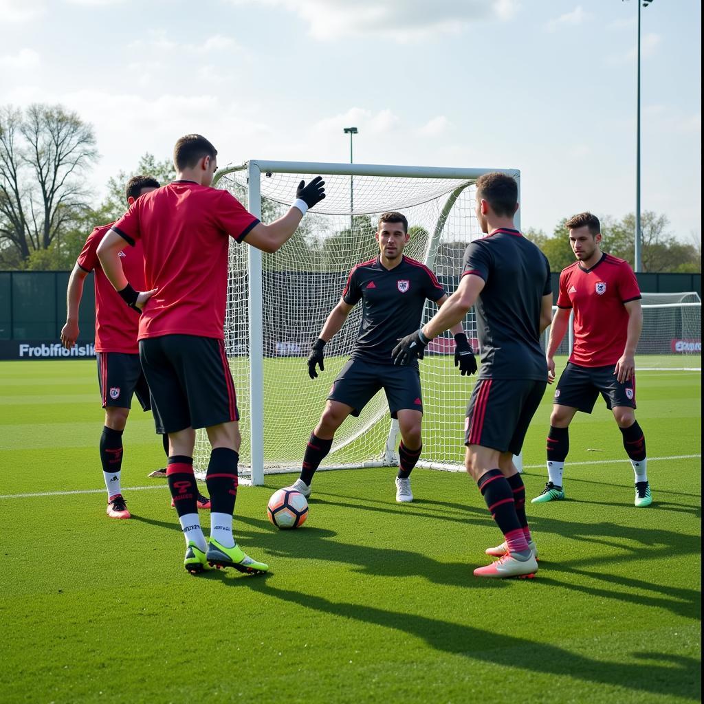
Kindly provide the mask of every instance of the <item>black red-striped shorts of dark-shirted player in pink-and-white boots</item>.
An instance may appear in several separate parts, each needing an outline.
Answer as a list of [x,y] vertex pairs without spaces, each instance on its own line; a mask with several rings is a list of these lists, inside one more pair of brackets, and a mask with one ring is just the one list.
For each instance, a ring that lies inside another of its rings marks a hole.
[[479,379],[467,404],[465,445],[520,453],[546,381]]

